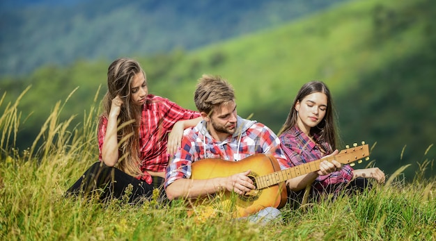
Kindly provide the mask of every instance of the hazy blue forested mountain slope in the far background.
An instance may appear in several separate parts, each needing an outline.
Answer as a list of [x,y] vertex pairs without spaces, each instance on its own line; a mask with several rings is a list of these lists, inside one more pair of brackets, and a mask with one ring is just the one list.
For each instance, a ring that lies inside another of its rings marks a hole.
[[0,75],[195,49],[345,0],[1,1]]

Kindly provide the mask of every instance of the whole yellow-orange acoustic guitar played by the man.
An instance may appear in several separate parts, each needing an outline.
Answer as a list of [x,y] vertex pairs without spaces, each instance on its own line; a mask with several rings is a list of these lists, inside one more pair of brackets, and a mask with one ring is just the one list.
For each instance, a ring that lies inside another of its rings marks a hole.
[[217,192],[208,197],[189,199],[189,203],[194,213],[198,213],[196,207],[201,210],[201,213],[205,210],[201,206],[208,207],[207,216],[212,215],[210,214],[212,212],[231,213],[233,217],[247,217],[266,207],[282,208],[287,201],[286,180],[318,171],[323,160],[336,160],[338,163],[353,165],[357,160],[361,162],[362,158],[368,160],[368,156],[368,144],[362,142],[361,146],[354,144],[353,147],[343,149],[336,156],[321,158],[284,170],[280,169],[274,156],[265,153],[254,154],[238,162],[216,158],[197,160],[192,163],[192,179],[226,177],[251,170],[249,178],[256,189],[243,195],[228,191]]

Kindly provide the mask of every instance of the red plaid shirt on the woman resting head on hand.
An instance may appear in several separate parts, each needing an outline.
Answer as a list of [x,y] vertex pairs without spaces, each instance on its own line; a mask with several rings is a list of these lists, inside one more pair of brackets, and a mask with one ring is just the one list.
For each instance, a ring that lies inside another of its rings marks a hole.
[[[142,160],[142,176],[138,179],[152,183],[152,177],[146,170],[152,172],[165,172],[168,165],[169,154],[166,153],[168,134],[174,124],[182,119],[194,119],[200,113],[187,110],[176,103],[162,97],[149,94],[143,105],[141,126],[139,127],[139,151]],[[106,134],[107,118],[101,117],[98,126],[99,159],[102,160],[102,147]]]

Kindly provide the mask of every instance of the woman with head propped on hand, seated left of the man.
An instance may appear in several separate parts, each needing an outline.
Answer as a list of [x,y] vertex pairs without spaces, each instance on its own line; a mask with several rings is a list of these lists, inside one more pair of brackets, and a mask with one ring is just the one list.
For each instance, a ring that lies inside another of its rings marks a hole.
[[180,147],[183,130],[195,126],[200,114],[148,94],[146,73],[130,58],[111,63],[107,86],[98,124],[100,161],[66,195],[97,194],[107,201],[123,197],[131,185],[130,202],[149,198],[164,182],[169,156]]

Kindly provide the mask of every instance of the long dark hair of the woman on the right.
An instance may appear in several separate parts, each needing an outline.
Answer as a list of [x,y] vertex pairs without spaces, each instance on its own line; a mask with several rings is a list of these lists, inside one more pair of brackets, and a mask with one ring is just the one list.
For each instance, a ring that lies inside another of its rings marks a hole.
[[325,85],[325,83],[322,83],[321,81],[310,81],[308,83],[305,83],[302,88],[299,89],[299,92],[294,99],[294,103],[290,107],[286,122],[283,124],[281,130],[279,131],[279,135],[288,131],[290,128],[297,124],[298,113],[297,110],[295,110],[295,105],[297,104],[297,102],[302,103],[304,97],[316,92],[321,92],[327,95],[327,111],[325,113],[325,117],[321,120],[321,122],[317,126],[311,128],[311,135],[319,135],[318,142],[327,142],[334,150],[336,149],[337,135],[335,128],[336,118],[334,116],[336,115],[336,113],[334,113],[333,100],[332,95],[330,94],[330,90],[329,88],[327,88],[327,85]]

